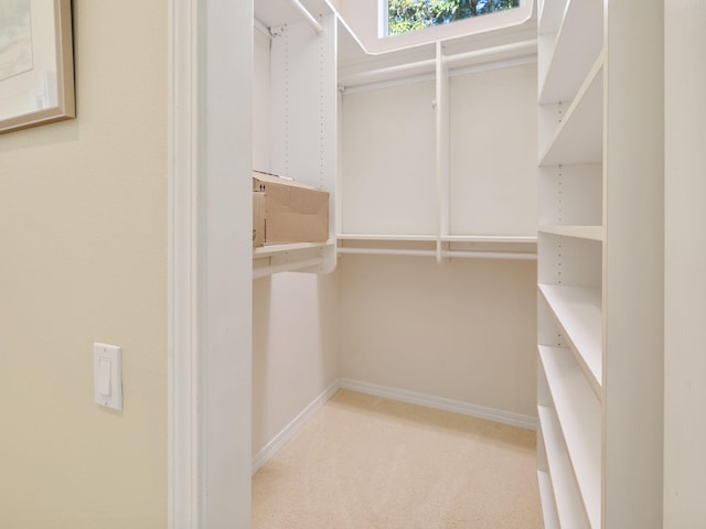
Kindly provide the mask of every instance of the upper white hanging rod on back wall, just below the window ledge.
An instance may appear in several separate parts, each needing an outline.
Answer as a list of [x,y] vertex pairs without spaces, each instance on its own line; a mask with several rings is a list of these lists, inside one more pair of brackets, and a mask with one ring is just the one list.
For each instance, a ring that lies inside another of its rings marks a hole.
[[[537,41],[527,40],[521,42],[514,42],[512,44],[503,44],[494,47],[485,47],[483,50],[475,50],[472,52],[458,53],[456,55],[448,55],[443,57],[443,62],[449,66],[452,66],[457,63],[463,63],[471,60],[478,58],[488,58],[494,55],[501,55],[503,53],[513,54],[516,52],[526,52],[526,53],[536,53],[537,51]],[[345,85],[361,85],[365,83],[370,83],[372,80],[378,78],[389,78],[395,77],[396,75],[404,74],[406,72],[421,73],[421,72],[434,72],[436,68],[436,58],[427,58],[424,61],[417,61],[414,63],[405,63],[398,64],[396,66],[388,66],[385,68],[371,69],[368,72],[361,72],[357,74],[350,74],[346,76],[342,76],[340,79],[340,84]]]

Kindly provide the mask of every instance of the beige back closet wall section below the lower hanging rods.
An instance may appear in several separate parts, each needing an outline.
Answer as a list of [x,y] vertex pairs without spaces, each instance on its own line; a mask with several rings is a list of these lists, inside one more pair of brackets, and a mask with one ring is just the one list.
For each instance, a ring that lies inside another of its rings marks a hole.
[[341,376],[536,414],[536,262],[343,256]]

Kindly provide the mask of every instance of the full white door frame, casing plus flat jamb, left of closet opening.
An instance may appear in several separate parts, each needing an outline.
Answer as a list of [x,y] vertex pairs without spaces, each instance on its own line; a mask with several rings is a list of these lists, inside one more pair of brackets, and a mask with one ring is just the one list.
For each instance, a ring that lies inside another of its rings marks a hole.
[[249,527],[253,3],[168,23],[168,527]]

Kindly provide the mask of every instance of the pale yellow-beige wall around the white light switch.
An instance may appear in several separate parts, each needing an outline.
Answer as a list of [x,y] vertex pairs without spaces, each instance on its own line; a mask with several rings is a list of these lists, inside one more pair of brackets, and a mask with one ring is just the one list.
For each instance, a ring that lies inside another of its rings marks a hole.
[[[167,525],[167,2],[74,0],[76,120],[0,136],[0,527]],[[125,410],[93,401],[122,346]]]

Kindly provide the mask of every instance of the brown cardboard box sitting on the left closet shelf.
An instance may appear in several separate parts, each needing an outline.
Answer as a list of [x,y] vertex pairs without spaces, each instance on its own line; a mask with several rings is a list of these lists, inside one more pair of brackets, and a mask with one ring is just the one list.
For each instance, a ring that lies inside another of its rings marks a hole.
[[265,194],[265,244],[321,242],[329,238],[329,193],[301,182],[253,173]]

